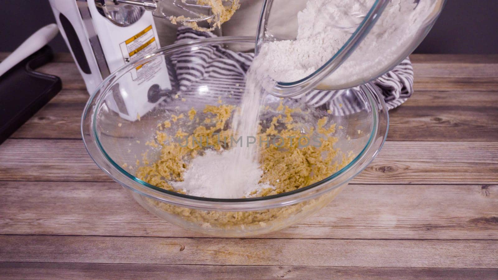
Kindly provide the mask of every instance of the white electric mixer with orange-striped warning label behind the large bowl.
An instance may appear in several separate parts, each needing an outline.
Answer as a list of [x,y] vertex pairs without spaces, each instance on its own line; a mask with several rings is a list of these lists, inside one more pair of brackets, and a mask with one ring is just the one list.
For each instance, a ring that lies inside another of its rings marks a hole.
[[[128,62],[160,48],[157,28],[150,11],[130,5],[109,8],[104,0],[50,0],[59,30],[69,47],[89,94],[112,72]],[[134,121],[161,99],[149,100],[152,85],[170,89],[167,64],[159,58],[139,65],[116,85],[107,100],[109,109]],[[121,88],[135,90],[123,93]]]

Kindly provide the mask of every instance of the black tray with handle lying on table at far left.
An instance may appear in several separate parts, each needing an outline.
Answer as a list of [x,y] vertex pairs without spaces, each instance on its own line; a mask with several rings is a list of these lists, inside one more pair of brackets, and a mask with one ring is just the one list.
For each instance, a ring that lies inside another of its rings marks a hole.
[[52,59],[44,46],[0,76],[0,144],[61,90],[59,77],[34,71]]

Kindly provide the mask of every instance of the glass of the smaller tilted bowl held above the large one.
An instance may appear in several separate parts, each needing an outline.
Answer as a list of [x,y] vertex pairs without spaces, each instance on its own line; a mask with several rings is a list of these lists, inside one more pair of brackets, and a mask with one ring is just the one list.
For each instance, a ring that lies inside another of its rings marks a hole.
[[[306,7],[306,2],[307,0],[294,0],[289,4],[288,0],[263,1],[256,53],[265,42],[298,38],[298,13]],[[339,90],[373,81],[393,69],[415,50],[436,22],[445,2],[446,0],[372,0],[368,12],[353,13],[347,22],[337,22],[332,15],[327,23],[320,21],[320,18],[316,19],[315,25],[329,24],[342,28],[347,36],[328,38],[343,40],[340,42],[342,47],[330,53],[330,59],[308,76],[300,80],[278,81],[271,93],[291,97],[313,88]],[[327,10],[330,7],[323,8]],[[400,12],[393,12],[398,8]],[[314,52],[317,53],[316,50]],[[364,63],[366,61],[369,63]]]

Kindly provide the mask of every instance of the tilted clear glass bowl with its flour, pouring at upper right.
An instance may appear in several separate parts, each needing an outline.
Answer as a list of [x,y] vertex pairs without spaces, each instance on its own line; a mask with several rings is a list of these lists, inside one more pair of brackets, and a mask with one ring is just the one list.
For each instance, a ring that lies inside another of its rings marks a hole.
[[[314,2],[320,1],[263,2],[256,53],[267,55],[265,49],[275,41],[287,41],[289,50],[298,48],[297,42],[308,48],[299,54],[307,57],[299,64],[275,66],[278,83],[270,90],[275,96],[295,96],[314,88],[352,88],[382,76],[420,44],[446,0],[328,1],[321,6]],[[316,14],[310,12],[313,9]],[[307,32],[310,25],[314,30]],[[324,38],[317,40],[323,33]],[[330,53],[324,51],[326,46]],[[320,57],[313,61],[314,56]],[[286,70],[301,67],[298,75]]]

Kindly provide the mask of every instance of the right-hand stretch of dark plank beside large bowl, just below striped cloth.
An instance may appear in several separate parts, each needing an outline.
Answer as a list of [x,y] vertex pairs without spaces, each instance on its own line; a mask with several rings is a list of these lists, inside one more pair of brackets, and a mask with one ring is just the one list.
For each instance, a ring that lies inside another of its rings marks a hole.
[[497,141],[498,92],[416,92],[389,112],[387,139]]

